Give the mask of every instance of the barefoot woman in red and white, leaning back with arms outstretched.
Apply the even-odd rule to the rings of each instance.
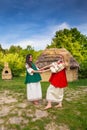
[[[52,74],[49,82],[50,86],[47,89],[46,100],[48,101],[46,109],[52,107],[52,102],[56,102],[56,107],[62,107],[62,101],[64,96],[64,88],[67,87],[66,78],[66,65],[63,56],[58,56],[58,61],[53,62],[51,65],[44,67],[43,69],[50,68]],[[47,70],[46,70],[47,71]]]

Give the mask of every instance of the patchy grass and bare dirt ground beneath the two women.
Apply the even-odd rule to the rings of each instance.
[[[87,130],[87,79],[69,83],[59,109],[44,110],[49,83],[41,86],[43,99],[34,106],[27,101],[24,77],[0,79],[0,130]]]

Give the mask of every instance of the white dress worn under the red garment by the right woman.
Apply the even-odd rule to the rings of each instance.
[[[52,73],[57,73],[60,72],[61,70],[63,70],[64,64],[63,63],[57,63],[57,62],[53,62],[50,70]],[[58,82],[58,81],[56,81]],[[64,89],[63,88],[59,88],[59,87],[55,87],[52,84],[49,85],[48,89],[47,89],[47,94],[46,94],[46,100],[47,101],[51,101],[51,102],[57,102],[60,103],[63,100],[63,96],[64,96]]]

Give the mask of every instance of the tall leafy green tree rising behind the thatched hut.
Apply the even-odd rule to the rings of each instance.
[[[55,33],[51,45],[47,48],[66,48],[80,64],[80,77],[86,76],[87,36],[81,34],[77,28],[59,30]]]

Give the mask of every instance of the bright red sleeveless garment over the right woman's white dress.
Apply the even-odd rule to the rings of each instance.
[[[67,87],[67,78],[66,78],[66,72],[65,69],[58,73],[52,73],[51,77],[49,79],[49,82],[55,86],[56,88],[64,88]]]

